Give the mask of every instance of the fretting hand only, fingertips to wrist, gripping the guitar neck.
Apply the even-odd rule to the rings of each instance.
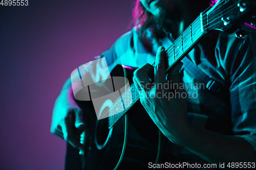
[[[134,83],[140,93],[140,102],[162,133],[174,143],[179,142],[190,125],[187,118],[186,92],[180,86],[179,70],[182,63],[174,65],[165,76],[165,50],[159,47],[155,68],[144,64],[134,72]],[[154,76],[154,82],[148,80]],[[168,86],[169,85],[169,86]]]

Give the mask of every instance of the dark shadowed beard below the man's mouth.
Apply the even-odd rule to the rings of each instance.
[[[157,15],[152,15],[152,22],[159,31],[169,34],[170,30],[178,26],[182,17],[180,7],[174,5],[171,9],[160,8]]]

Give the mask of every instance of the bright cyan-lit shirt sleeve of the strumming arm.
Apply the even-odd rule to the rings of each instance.
[[[103,90],[103,86],[109,85],[112,88],[110,91],[113,92],[110,72],[117,64],[123,64],[125,60],[129,60],[129,57],[123,57],[125,60],[120,60],[120,54],[131,48],[130,41],[132,37],[133,32],[127,32],[119,37],[109,50],[96,56],[95,60],[82,64],[72,71],[71,84],[76,100],[90,101],[98,98],[100,95],[104,95],[105,93],[102,94],[102,91],[100,91],[100,89]],[[108,90],[104,91],[107,93]]]

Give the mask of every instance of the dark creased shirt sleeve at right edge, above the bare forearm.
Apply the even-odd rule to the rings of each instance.
[[[231,121],[236,136],[256,153],[256,32],[241,39],[230,68]]]

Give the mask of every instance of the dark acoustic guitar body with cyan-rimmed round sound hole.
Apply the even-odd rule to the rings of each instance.
[[[133,71],[117,65],[111,77],[125,77],[133,83]],[[92,102],[76,101],[86,121],[86,150],[82,169],[148,169],[160,155],[160,131],[137,102],[121,119],[108,129],[109,117],[97,120]]]

